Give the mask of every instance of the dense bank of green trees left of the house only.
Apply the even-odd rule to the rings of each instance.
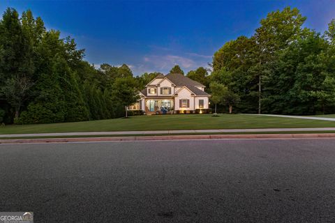
[[[75,40],[47,31],[30,10],[0,21],[0,121],[58,123],[117,118],[136,101],[140,79],[128,66],[84,61]]]

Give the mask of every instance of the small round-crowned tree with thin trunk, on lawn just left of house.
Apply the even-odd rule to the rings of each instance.
[[[111,94],[112,100],[125,108],[127,118],[127,107],[133,105],[139,99],[135,79],[133,77],[115,79]]]

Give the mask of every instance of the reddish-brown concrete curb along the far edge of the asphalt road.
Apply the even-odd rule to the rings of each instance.
[[[54,138],[54,139],[0,139],[0,144],[45,144],[89,141],[163,141],[187,139],[334,139],[335,133],[311,134],[202,134],[202,135],[167,135],[143,137],[88,137],[88,138]]]

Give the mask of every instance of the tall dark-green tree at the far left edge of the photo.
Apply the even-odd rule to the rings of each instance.
[[[0,89],[18,118],[34,85],[35,66],[32,43],[13,8],[6,10],[0,22],[0,60]]]

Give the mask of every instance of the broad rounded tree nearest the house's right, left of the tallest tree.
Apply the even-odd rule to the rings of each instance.
[[[213,72],[207,78],[208,82],[224,84],[237,93],[241,98],[237,109],[244,113],[253,113],[258,109],[258,80],[253,72],[255,49],[255,40],[245,36],[225,43],[214,54]]]

